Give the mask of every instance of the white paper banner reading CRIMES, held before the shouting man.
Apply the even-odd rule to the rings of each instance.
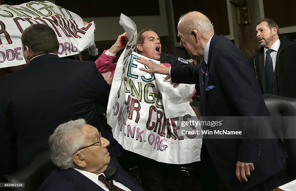
[[[200,161],[202,135],[184,133],[200,131],[200,125],[182,127],[190,119],[197,120],[189,106],[194,85],[174,87],[173,83],[163,81],[164,75],[140,71],[144,65],[135,59],[146,57],[133,52],[136,25],[123,14],[120,25],[129,41],[117,63],[107,107],[107,122],[114,138],[124,149],[159,162]]]

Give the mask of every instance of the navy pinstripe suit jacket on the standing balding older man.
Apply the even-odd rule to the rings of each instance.
[[[171,77],[173,82],[200,84],[202,116],[270,115],[248,60],[227,38],[214,35],[211,39],[205,85],[200,65],[172,67]],[[215,87],[206,90],[211,85]],[[282,168],[281,160],[286,157],[283,143],[278,139],[204,139],[203,144],[230,190],[263,182]],[[237,160],[254,163],[255,170],[248,182],[237,181]]]

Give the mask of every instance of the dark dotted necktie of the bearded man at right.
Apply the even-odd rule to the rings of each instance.
[[[265,57],[265,81],[266,81],[266,93],[272,93],[272,81],[274,79],[274,67],[272,65],[272,59],[270,53],[273,50],[268,49]]]

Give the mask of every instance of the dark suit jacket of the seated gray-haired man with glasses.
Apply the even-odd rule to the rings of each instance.
[[[140,191],[143,188],[116,162],[113,158],[110,160],[110,164],[117,167],[116,174],[113,175],[113,179],[116,182],[120,182],[125,187],[128,187],[133,191]],[[51,174],[45,179],[45,181],[39,187],[40,191],[71,191],[71,190],[103,190],[89,178],[81,174],[75,169],[54,169]]]

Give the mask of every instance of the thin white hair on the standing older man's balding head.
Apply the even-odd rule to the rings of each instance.
[[[178,23],[180,23],[183,17],[188,13],[181,15]],[[187,35],[191,33],[191,30],[197,30],[200,34],[204,34],[209,31],[215,32],[213,23],[205,15],[204,17],[189,17],[186,18],[186,20],[182,20],[182,22],[184,22],[183,28]]]

